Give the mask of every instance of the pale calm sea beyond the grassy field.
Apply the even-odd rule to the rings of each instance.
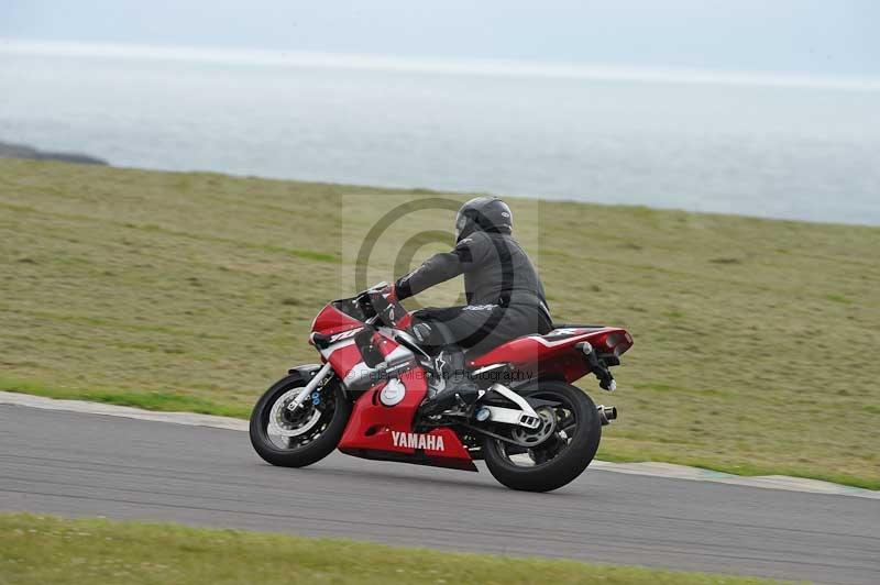
[[[880,224],[878,84],[189,57],[0,44],[0,141],[119,166]]]

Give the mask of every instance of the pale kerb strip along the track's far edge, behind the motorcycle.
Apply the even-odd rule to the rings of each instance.
[[[0,404],[15,405],[45,410],[64,410],[67,412],[81,412],[86,415],[107,415],[139,420],[157,422],[172,422],[188,424],[190,427],[212,427],[233,431],[246,431],[248,421],[229,417],[215,417],[211,415],[197,415],[195,412],[158,412],[143,410],[128,406],[105,405],[85,400],[56,400],[42,396],[18,394],[0,390]],[[809,492],[813,494],[829,494],[836,496],[855,496],[861,498],[880,499],[880,492],[861,489],[818,479],[790,477],[788,475],[760,475],[741,476],[729,473],[713,472],[700,467],[674,465],[672,463],[610,463],[607,461],[593,461],[591,468],[614,473],[629,473],[634,475],[650,475],[670,479],[691,479],[696,482],[714,482],[719,484],[735,484],[767,489],[785,489],[789,492]]]

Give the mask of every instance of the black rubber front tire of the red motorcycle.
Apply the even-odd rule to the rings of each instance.
[[[251,444],[254,451],[266,462],[280,467],[305,467],[316,463],[330,453],[339,444],[342,433],[351,416],[351,402],[342,391],[339,380],[331,379],[327,383],[323,393],[328,399],[333,400],[333,411],[326,415],[327,420],[319,421],[326,424],[312,441],[290,449],[282,449],[270,439],[267,428],[270,416],[275,402],[292,389],[302,387],[308,383],[299,374],[292,374],[276,382],[260,398],[251,413]],[[307,401],[307,404],[309,404]],[[304,405],[300,408],[305,408]]]

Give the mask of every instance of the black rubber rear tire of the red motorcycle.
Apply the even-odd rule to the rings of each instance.
[[[487,437],[483,441],[486,466],[498,482],[512,489],[525,492],[558,489],[581,475],[596,454],[602,439],[602,421],[596,405],[586,393],[562,382],[541,382],[518,394],[566,404],[566,408],[571,410],[576,421],[574,435],[556,456],[542,463],[536,462],[532,466],[517,465],[506,454],[502,442]],[[551,435],[547,442],[554,437],[556,434]]]

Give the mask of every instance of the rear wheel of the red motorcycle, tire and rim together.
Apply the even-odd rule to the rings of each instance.
[[[560,427],[526,453],[524,449],[510,449],[509,443],[486,437],[483,441],[486,466],[498,482],[512,489],[558,489],[581,475],[596,454],[602,439],[602,421],[596,405],[586,393],[562,382],[540,382],[519,394],[559,402],[560,407],[554,410]],[[563,426],[569,426],[571,432],[560,432]],[[515,452],[515,459],[508,449]]]

